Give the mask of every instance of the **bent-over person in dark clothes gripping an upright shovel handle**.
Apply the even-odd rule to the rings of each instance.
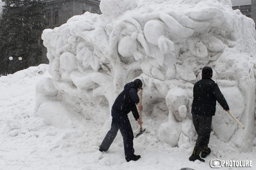
[[[140,100],[137,94],[140,88],[142,88],[142,81],[140,79],[136,79],[124,86],[124,90],[118,95],[112,106],[111,128],[106,137],[103,139],[99,149],[101,152],[107,151],[114,141],[119,129],[124,141],[124,154],[127,162],[130,160],[138,160],[140,158],[140,155],[134,154],[134,136],[127,115],[130,111],[132,111],[132,114],[135,120],[138,121],[138,124],[140,125],[142,123],[136,108],[137,105],[140,111],[143,109],[143,107],[139,104]]]

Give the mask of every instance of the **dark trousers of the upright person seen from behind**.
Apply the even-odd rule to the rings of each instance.
[[[204,147],[205,145],[208,145],[212,126],[212,116],[192,114],[192,119],[196,133],[198,134],[196,146]]]

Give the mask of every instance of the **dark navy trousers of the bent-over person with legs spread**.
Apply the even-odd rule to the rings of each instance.
[[[133,149],[133,132],[130,121],[127,115],[118,115],[112,116],[111,128],[108,131],[106,137],[103,139],[100,150],[107,151],[114,141],[116,134],[120,130],[123,140],[124,140],[124,154],[125,158],[129,159],[134,156]]]

